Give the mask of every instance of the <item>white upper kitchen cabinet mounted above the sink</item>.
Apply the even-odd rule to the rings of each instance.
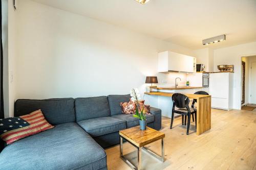
[[[158,72],[180,71],[196,72],[195,57],[165,51],[158,53]]]

